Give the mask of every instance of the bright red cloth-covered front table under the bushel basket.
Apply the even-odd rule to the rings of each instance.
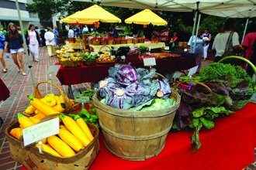
[[[211,130],[202,128],[199,132],[202,148],[192,153],[193,131],[169,133],[157,157],[145,162],[130,162],[112,155],[100,136],[98,157],[90,170],[241,170],[254,162],[256,145],[255,104],[248,103],[235,114],[219,118]]]

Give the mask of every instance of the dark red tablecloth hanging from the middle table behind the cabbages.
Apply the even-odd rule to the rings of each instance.
[[[136,68],[144,67],[143,62],[132,63]],[[72,85],[87,82],[99,82],[109,76],[109,67],[113,64],[97,65],[97,66],[81,66],[75,68],[64,68],[61,66],[57,73],[57,78],[62,85]],[[173,59],[159,59],[157,66],[153,66],[157,73],[172,73],[180,70],[188,70],[195,66],[195,56],[181,57]],[[148,67],[145,67],[148,68]]]

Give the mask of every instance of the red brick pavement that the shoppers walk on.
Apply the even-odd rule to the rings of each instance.
[[[10,55],[10,54],[9,54]],[[2,72],[2,65],[0,65],[0,78],[5,82],[6,86],[10,90],[10,95],[7,100],[0,103],[0,117],[2,117],[4,124],[0,125],[0,169],[12,169],[12,170],[21,170],[22,165],[13,161],[10,156],[9,151],[9,143],[5,138],[5,128],[12,122],[17,121],[17,114],[22,113],[26,110],[26,107],[29,105],[29,100],[27,99],[27,94],[33,95],[33,85],[32,80],[30,78],[28,63],[26,56],[23,56],[23,61],[25,64],[26,76],[22,76],[22,73],[17,73],[16,65],[12,61],[12,57],[10,59],[6,58],[6,54],[4,56],[5,63],[7,68],[9,69],[7,73]],[[41,80],[48,80],[49,76],[46,75],[47,68],[50,65],[54,65],[57,63],[57,59],[54,57],[48,57],[47,48],[40,47],[40,61],[38,63],[32,62],[32,58],[30,58],[30,62],[32,63],[32,71],[35,83],[40,82]],[[213,63],[212,61],[206,60],[202,62],[202,67],[206,67],[209,63]],[[56,76],[53,77],[53,82],[56,83],[65,93],[67,93],[67,86],[61,86],[59,80],[57,80]],[[89,88],[90,83],[81,83],[73,85],[72,88],[80,88],[82,91],[85,88]],[[45,95],[47,93],[56,93],[60,95],[61,93],[57,88],[50,87],[47,84],[40,84],[40,92]],[[67,93],[68,97],[71,97],[71,94]],[[256,151],[255,151],[256,155]],[[256,156],[255,156],[256,158]],[[254,164],[249,165],[247,170],[256,170],[256,162]]]

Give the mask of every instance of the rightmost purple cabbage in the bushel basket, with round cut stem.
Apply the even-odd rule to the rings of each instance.
[[[171,96],[171,87],[168,83],[168,79],[153,80],[150,84],[150,88],[150,97],[168,99]]]

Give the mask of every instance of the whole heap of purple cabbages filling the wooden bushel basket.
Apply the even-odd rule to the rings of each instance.
[[[171,95],[168,80],[151,80],[155,72],[155,69],[148,72],[130,64],[116,64],[109,69],[109,77],[99,82],[100,97],[104,98],[102,103],[124,110],[153,110],[150,107],[153,104],[157,105],[154,109],[175,104],[175,100],[168,99]],[[161,105],[162,102],[165,104]]]

